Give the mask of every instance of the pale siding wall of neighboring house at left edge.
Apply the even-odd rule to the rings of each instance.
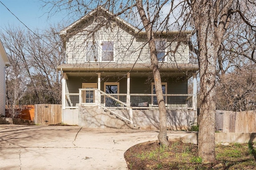
[[[5,89],[5,63],[4,63],[4,59],[0,53],[0,115],[4,114],[4,98],[5,98],[5,94],[4,94],[4,89]]]

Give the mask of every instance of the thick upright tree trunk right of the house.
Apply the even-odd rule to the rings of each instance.
[[[193,15],[198,39],[200,67],[200,115],[198,156],[203,162],[215,162],[215,79],[218,49],[214,37],[214,12],[211,1],[194,2]]]

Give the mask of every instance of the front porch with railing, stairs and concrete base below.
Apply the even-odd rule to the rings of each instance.
[[[154,82],[145,84],[146,76],[139,77],[138,74],[133,74],[132,82],[129,73],[121,80],[103,77],[101,73],[96,74],[97,83],[97,78],[92,75],[74,78],[70,76],[71,74],[67,77],[64,73],[62,79],[64,123],[84,127],[136,126],[141,129],[158,129],[159,108]],[[196,74],[193,75],[193,94],[187,93],[186,79],[180,82],[171,80],[170,77],[163,79],[165,82],[162,81],[162,90],[168,115],[168,129],[186,129],[189,123],[197,121]],[[181,93],[174,94],[174,92]]]

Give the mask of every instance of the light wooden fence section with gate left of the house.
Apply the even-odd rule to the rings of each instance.
[[[35,123],[39,125],[52,125],[62,122],[61,104],[36,104]]]

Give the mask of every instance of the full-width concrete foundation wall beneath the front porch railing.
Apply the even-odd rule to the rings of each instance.
[[[130,119],[129,110],[115,110],[118,114]],[[170,130],[187,130],[191,122],[197,122],[196,111],[167,110],[167,127]],[[89,128],[117,129],[159,129],[159,111],[148,109],[133,110],[134,125],[111,115],[110,112],[99,109],[98,106],[79,106],[79,109],[64,109],[63,123]],[[135,128],[134,128],[135,127]]]

